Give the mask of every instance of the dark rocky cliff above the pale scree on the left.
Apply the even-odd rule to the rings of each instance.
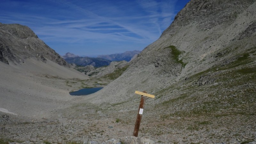
[[[27,26],[0,23],[0,61],[7,64],[20,63],[27,58],[36,58],[43,62],[49,59],[61,66],[70,67]]]

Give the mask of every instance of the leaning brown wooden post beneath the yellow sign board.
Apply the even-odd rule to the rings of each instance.
[[[141,95],[140,106],[139,106],[139,110],[138,110],[138,114],[137,114],[137,118],[136,118],[136,122],[135,122],[135,126],[134,126],[134,131],[133,131],[133,136],[135,136],[135,137],[138,137],[138,133],[139,133],[139,129],[140,129],[140,122],[141,122],[141,118],[142,118],[142,114],[139,114],[139,113],[140,113],[140,108],[144,109],[145,100],[146,100],[146,96]]]

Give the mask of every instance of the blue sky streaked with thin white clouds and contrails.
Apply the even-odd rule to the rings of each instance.
[[[143,50],[189,0],[1,0],[0,22],[31,28],[64,55]]]

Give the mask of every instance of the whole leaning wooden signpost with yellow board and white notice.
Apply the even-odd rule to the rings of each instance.
[[[139,129],[140,129],[140,121],[142,118],[142,113],[143,113],[143,108],[144,108],[144,103],[146,100],[146,96],[150,97],[150,98],[155,98],[154,95],[148,94],[147,92],[139,92],[139,91],[135,91],[136,94],[140,94],[141,98],[140,98],[140,106],[139,106],[139,110],[138,110],[138,114],[137,114],[137,118],[136,118],[136,122],[135,122],[135,126],[134,126],[134,131],[133,131],[133,136],[138,137],[138,133],[139,133]]]

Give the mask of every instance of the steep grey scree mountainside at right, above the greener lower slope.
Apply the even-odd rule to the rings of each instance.
[[[254,6],[255,1],[192,0],[162,36],[147,46],[108,88],[119,85],[127,92],[142,89],[155,93],[186,77],[243,58],[252,59],[248,65],[253,65]],[[134,86],[122,83],[124,80]]]

